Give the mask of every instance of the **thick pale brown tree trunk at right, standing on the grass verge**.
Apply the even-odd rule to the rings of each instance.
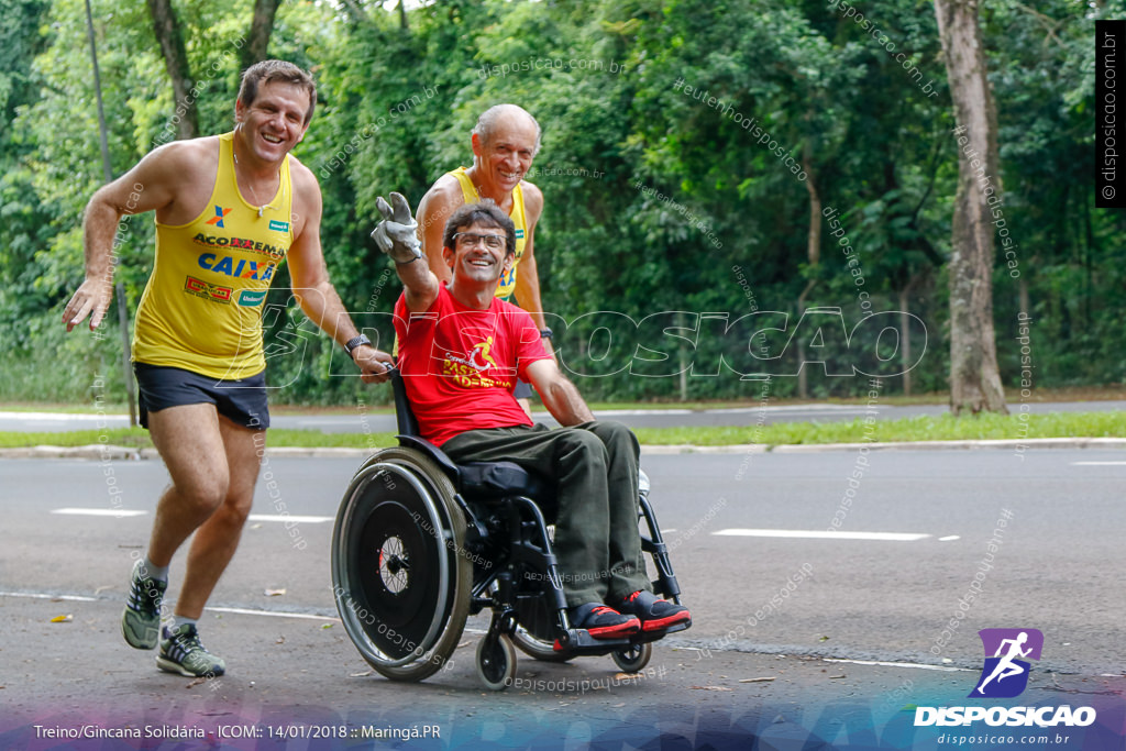
[[[950,279],[950,410],[1008,414],[993,330],[993,225],[986,190],[1001,194],[997,107],[985,77],[977,0],[935,0],[958,128]]]

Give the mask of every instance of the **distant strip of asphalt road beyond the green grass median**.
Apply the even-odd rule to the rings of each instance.
[[[1016,405],[1010,405],[1010,408]],[[602,410],[598,417],[617,420],[631,428],[663,428],[674,426],[753,426],[776,422],[835,422],[865,417],[864,404],[754,404],[722,410]],[[1126,410],[1126,402],[1045,402],[1029,404],[1029,412],[1109,412]],[[945,404],[911,404],[905,406],[879,404],[876,414],[882,420],[899,420],[920,414],[946,414]],[[555,424],[551,415],[539,412],[536,420]],[[363,408],[348,414],[271,415],[275,428],[300,428],[323,432],[394,432],[392,414],[372,414]],[[52,412],[0,412],[0,430],[68,431],[101,428],[126,428],[127,414],[68,414]]]

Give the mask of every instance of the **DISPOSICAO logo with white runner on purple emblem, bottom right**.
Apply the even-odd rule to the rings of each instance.
[[[983,628],[977,632],[985,649],[985,663],[968,698],[1011,699],[1028,688],[1031,663],[1044,650],[1044,634],[1036,628]],[[1022,658],[1027,658],[1022,659]],[[914,724],[1084,727],[1096,719],[1093,707],[915,707]]]

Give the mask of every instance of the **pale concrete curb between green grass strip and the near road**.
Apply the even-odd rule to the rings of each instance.
[[[646,456],[668,454],[817,454],[824,452],[935,452],[935,450],[1009,450],[1024,454],[1031,449],[1120,449],[1126,448],[1126,438],[1028,438],[1025,440],[919,440],[901,442],[859,444],[814,444],[770,446],[767,444],[740,444],[735,446],[692,446],[689,444],[644,445],[641,453]],[[377,448],[334,447],[279,447],[267,448],[268,457],[307,458],[367,458]],[[0,449],[0,459],[159,459],[154,448],[131,448],[91,444],[89,446],[27,446]]]

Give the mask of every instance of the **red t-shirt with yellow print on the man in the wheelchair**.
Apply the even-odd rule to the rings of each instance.
[[[425,313],[395,303],[399,370],[419,431],[441,446],[465,432],[530,426],[512,396],[530,363],[551,357],[527,312],[493,297],[488,311],[465,307],[441,285]]]

